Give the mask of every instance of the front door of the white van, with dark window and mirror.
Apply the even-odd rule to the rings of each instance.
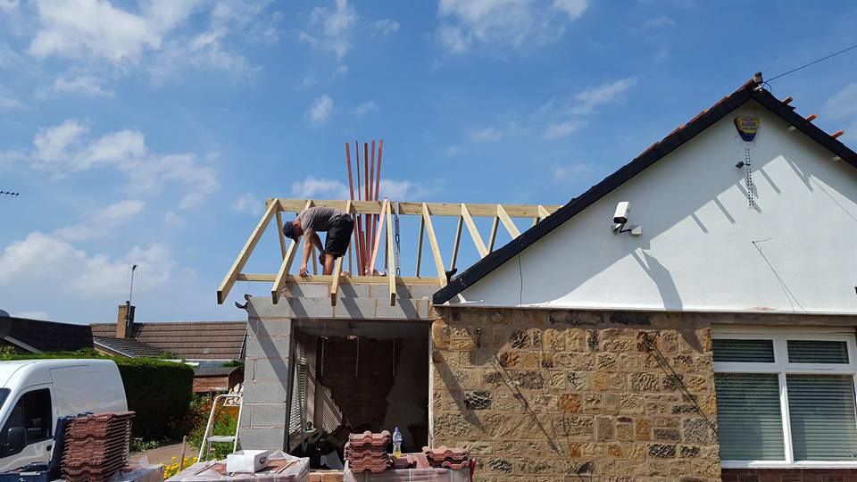
[[[54,411],[50,385],[28,386],[14,402],[9,418],[0,430],[0,472],[30,463],[47,463],[54,446]],[[23,448],[12,446],[11,428],[23,428]]]

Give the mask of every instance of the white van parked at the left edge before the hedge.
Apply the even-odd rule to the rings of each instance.
[[[128,411],[110,360],[0,362],[0,473],[50,461],[58,418],[104,411]]]

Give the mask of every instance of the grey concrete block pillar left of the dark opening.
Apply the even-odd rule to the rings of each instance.
[[[291,332],[292,321],[287,318],[247,320],[242,448],[284,445]]]

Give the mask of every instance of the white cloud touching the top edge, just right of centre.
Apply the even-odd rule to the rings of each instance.
[[[440,0],[436,36],[452,54],[473,46],[519,47],[562,37],[588,0]]]

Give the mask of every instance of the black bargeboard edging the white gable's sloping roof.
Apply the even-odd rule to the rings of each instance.
[[[526,249],[529,245],[533,245],[542,237],[545,237],[553,229],[556,229],[562,223],[577,215],[578,212],[585,210],[604,195],[609,194],[613,189],[620,187],[628,179],[633,178],[654,162],[658,162],[680,145],[685,144],[688,140],[751,100],[761,104],[780,119],[785,120],[794,126],[795,129],[800,130],[803,134],[806,134],[812,140],[828,149],[828,151],[857,168],[857,153],[836,140],[836,137],[830,136],[827,132],[812,124],[811,120],[804,119],[795,113],[795,108],[788,104],[790,98],[785,102],[780,101],[767,90],[761,89],[760,85],[751,79],[739,87],[732,95],[723,97],[720,99],[720,102],[698,113],[693,119],[670,132],[661,141],[650,145],[633,161],[628,162],[628,164],[613,172],[600,183],[590,187],[587,192],[575,197],[552,215],[521,233],[519,237],[516,237],[507,245],[504,245],[493,253],[489,253],[485,258],[470,266],[460,276],[453,278],[449,284],[438,290],[432,296],[432,302],[439,305],[451,300],[453,296],[460,294],[464,289],[472,286],[479,279],[500,267],[504,262],[511,260],[516,254]]]

